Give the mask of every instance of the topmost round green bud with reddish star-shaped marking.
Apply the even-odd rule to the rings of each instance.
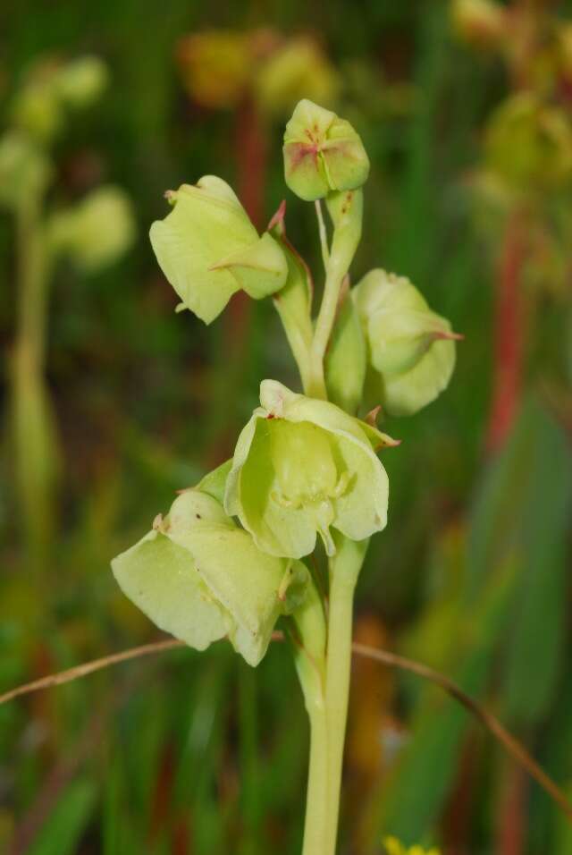
[[[286,183],[307,201],[356,190],[369,174],[366,149],[349,122],[307,98],[286,125],[283,153]]]

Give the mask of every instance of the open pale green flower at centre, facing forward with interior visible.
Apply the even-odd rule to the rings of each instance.
[[[316,534],[334,554],[331,528],[364,540],[387,522],[388,479],[374,448],[389,437],[327,401],[260,387],[226,482],[226,512],[240,518],[257,546],[301,558]]]

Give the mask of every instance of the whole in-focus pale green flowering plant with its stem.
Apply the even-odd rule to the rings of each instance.
[[[265,379],[231,459],[183,491],[112,566],[127,596],[194,648],[226,637],[257,665],[282,619],[311,734],[303,851],[332,855],[353,595],[369,539],[387,523],[378,452],[396,444],[374,415],[360,416],[366,395],[396,414],[433,401],[450,380],[457,336],[406,279],[377,269],[349,287],[369,171],[351,125],[303,100],[283,151],[286,183],[318,215],[325,279],[315,318],[312,278],[287,240],[284,203],[259,235],[228,184],[206,176],[167,193],[172,211],[150,234],[179,308],[206,323],[233,292],[272,296],[302,394]]]

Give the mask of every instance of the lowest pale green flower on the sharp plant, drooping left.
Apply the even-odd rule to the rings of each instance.
[[[168,516],[112,562],[122,591],[156,625],[204,650],[228,636],[249,665],[304,599],[307,569],[263,554],[211,495],[186,490]]]

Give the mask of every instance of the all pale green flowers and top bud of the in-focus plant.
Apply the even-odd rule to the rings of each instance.
[[[305,100],[286,126],[284,165],[301,199],[326,197],[333,224],[327,263],[341,299],[361,229],[361,202],[356,220],[350,197],[366,181],[366,151],[348,122]],[[260,236],[229,185],[212,175],[166,196],[172,211],[151,226],[150,238],[180,308],[209,324],[240,289],[255,299],[273,295],[279,310],[288,304],[281,310],[286,332],[311,360],[311,288],[285,240],[283,212]],[[303,560],[316,539],[332,557],[337,537],[366,541],[387,523],[388,477],[377,452],[395,443],[354,414],[364,379],[389,413],[414,412],[448,384],[454,336],[412,284],[383,270],[367,274],[345,305],[329,331],[333,400],[265,380],[214,494],[201,486],[183,493],[114,560],[125,593],[192,647],[227,636],[256,665],[274,622],[304,597],[310,577]],[[344,377],[358,378],[351,395],[343,393]]]

